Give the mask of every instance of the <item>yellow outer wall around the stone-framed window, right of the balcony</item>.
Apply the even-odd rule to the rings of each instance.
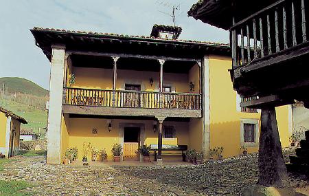
[[[223,146],[224,157],[239,155],[240,120],[259,119],[260,113],[236,111],[236,91],[233,90],[228,69],[231,58],[210,56],[210,148]],[[282,146],[288,146],[288,107],[277,111],[277,122]],[[259,122],[260,124],[260,122]],[[249,147],[249,153],[258,151],[258,147]]]

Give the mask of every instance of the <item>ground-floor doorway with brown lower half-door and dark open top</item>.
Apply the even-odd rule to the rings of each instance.
[[[124,160],[139,160],[140,131],[139,127],[124,127]]]

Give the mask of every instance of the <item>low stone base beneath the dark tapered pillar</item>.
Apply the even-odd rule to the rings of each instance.
[[[276,188],[262,185],[255,185],[252,188],[244,188],[242,190],[244,196],[303,196],[297,193],[293,188]]]

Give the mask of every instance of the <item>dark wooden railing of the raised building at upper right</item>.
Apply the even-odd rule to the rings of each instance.
[[[280,0],[231,28],[233,67],[275,56],[308,40],[308,0]]]

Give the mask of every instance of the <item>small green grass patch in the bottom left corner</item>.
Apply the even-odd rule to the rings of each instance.
[[[1,196],[26,196],[32,195],[30,190],[26,190],[31,185],[25,181],[5,181],[0,180],[0,195]]]

